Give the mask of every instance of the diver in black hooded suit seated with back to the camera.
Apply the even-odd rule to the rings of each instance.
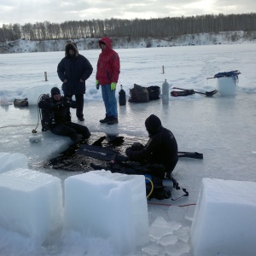
[[[177,141],[172,131],[164,128],[160,119],[151,114],[145,120],[148,131],[148,143],[143,146],[141,143],[134,143],[130,148],[126,148],[125,154],[130,160],[144,161],[151,164],[164,166],[161,169],[161,177],[170,177],[177,164]]]

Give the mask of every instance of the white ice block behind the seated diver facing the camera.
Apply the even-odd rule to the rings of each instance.
[[[34,86],[26,89],[26,97],[27,97],[28,104],[37,105],[38,97],[42,94],[49,94],[50,96],[50,90],[53,87],[57,87],[57,86],[53,84],[44,84],[44,85],[38,85],[38,86]]]

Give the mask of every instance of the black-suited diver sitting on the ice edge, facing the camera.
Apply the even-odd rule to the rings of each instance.
[[[51,131],[55,135],[70,137],[74,142],[79,139],[88,139],[90,131],[84,125],[71,122],[70,108],[76,108],[77,102],[61,96],[57,87],[51,89],[51,97],[46,96],[38,107],[42,108],[42,131]]]

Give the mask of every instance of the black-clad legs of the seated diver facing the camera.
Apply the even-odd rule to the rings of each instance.
[[[50,131],[55,135],[70,137],[73,141],[76,141],[80,138],[79,134],[82,135],[83,138],[90,137],[90,131],[86,126],[75,124],[72,122],[57,124],[51,127]]]

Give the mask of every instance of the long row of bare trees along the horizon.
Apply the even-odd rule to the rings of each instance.
[[[74,38],[130,37],[172,38],[201,32],[256,31],[256,14],[196,15],[134,20],[80,20],[61,24],[49,21],[35,24],[3,24],[0,42],[16,39],[54,40]]]

